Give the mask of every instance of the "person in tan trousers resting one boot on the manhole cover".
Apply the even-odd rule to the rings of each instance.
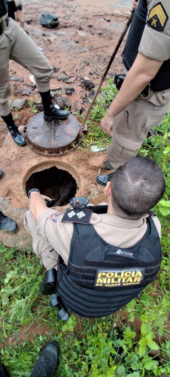
[[[19,21],[20,25],[24,27],[22,6],[16,0],[14,2],[16,5],[15,20]],[[69,116],[69,112],[58,110],[53,105],[50,95],[50,79],[53,69],[33,40],[16,21],[8,17],[7,1],[0,0],[0,116],[6,123],[15,143],[19,146],[25,146],[26,140],[13,120],[8,103],[11,95],[9,59],[27,68],[34,75],[43,104],[45,120],[64,120]]]

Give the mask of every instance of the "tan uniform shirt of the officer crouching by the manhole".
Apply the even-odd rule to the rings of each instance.
[[[57,213],[57,221],[52,220],[54,213]],[[126,220],[115,215],[96,215],[96,213],[93,213],[90,224],[93,224],[96,232],[110,245],[127,248],[136,244],[144,236],[147,230],[146,218],[148,216],[146,214],[138,220]],[[70,241],[73,234],[73,223],[61,222],[62,218],[63,212],[60,215],[56,210],[52,209],[43,211],[38,219],[36,233],[38,236],[43,236],[52,245],[67,265]],[[152,218],[160,237],[161,224],[156,216],[152,216]],[[54,253],[52,257],[54,258]]]

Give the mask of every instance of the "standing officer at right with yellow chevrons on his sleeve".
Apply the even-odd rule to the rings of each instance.
[[[122,54],[126,78],[101,121],[104,133],[113,136],[108,150],[113,169],[136,156],[148,130],[170,108],[170,2],[133,0],[133,6],[137,8]],[[100,175],[96,181],[106,186],[111,177]]]

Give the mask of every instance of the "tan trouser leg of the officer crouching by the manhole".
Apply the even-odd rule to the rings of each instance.
[[[47,270],[50,268],[57,270],[58,253],[43,236],[39,236],[36,233],[37,221],[32,216],[30,210],[26,211],[24,215],[24,226],[31,234],[34,253],[42,260],[44,267]]]

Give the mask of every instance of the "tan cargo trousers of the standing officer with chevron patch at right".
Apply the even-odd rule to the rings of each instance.
[[[113,169],[135,157],[148,134],[170,108],[170,89],[153,93],[149,100],[136,99],[115,118],[112,144],[107,156]]]

